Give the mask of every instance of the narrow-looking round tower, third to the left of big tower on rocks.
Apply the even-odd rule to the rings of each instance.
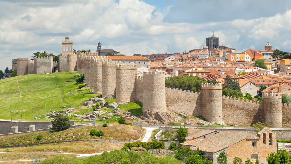
[[[94,69],[94,78],[93,78],[93,87],[94,94],[102,94],[102,61],[108,61],[108,56],[106,57],[95,57],[93,69]]]

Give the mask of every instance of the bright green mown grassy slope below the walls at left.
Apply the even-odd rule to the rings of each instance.
[[[17,110],[20,111],[18,120],[22,115],[23,120],[32,121],[32,106],[34,105],[34,116],[38,116],[38,104],[40,116],[44,114],[45,104],[46,113],[49,113],[50,109],[61,110],[62,106],[75,109],[82,106],[81,101],[96,95],[86,89],[81,90],[84,91],[84,96],[81,95],[81,92],[75,89],[75,75],[77,72],[30,74],[0,80],[0,118],[9,120],[10,110]],[[75,94],[70,96],[68,92]],[[12,117],[16,120],[15,113]]]

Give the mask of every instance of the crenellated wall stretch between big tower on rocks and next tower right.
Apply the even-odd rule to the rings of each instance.
[[[188,116],[201,114],[201,93],[166,86],[166,106]]]

